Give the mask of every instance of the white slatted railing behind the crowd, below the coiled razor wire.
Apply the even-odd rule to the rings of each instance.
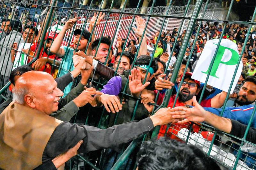
[[[192,10],[188,10],[186,17],[191,17],[192,15]],[[169,15],[173,15],[173,16],[180,16],[182,17],[184,15],[184,11],[172,11],[169,12]],[[200,10],[198,18],[201,18],[203,13],[203,9]],[[207,9],[205,15],[204,15],[204,19],[220,19],[220,20],[224,20],[226,18],[227,15],[227,9],[225,8],[215,8],[215,9]],[[108,18],[103,18],[102,21],[100,22],[100,25],[97,26],[95,28],[95,39],[100,38],[104,25],[107,24],[106,29],[103,33],[103,36],[109,35],[111,37],[111,39],[114,38],[114,42],[113,42],[113,48],[116,49],[116,40],[117,37],[120,36],[121,38],[126,39],[127,38],[127,34],[129,31],[129,27],[132,25],[133,27],[136,26],[135,22],[132,22],[132,17],[131,15],[124,15],[121,20],[119,25],[117,26],[118,23],[118,19],[119,17],[117,16],[112,16]],[[146,22],[147,17],[142,17],[144,19],[144,21]],[[90,20],[90,19],[89,19]],[[164,18],[163,17],[150,17],[149,18],[149,22],[147,25],[147,41],[150,40],[150,38],[152,36],[155,35],[156,32],[159,32],[162,26]],[[181,32],[185,29],[187,29],[188,26],[188,19],[185,19],[183,23],[181,23],[182,19],[177,19],[177,18],[167,18],[165,23],[164,23],[164,29],[163,31],[166,32],[167,29],[172,30],[173,28],[177,27],[179,28],[181,26]],[[82,21],[81,21],[82,22]],[[81,23],[80,22],[80,23]],[[205,22],[203,22],[205,23]],[[57,23],[56,23],[57,24]],[[84,25],[84,23],[81,24],[76,24],[76,28],[82,28],[82,26]],[[85,29],[88,28],[88,23],[85,23]],[[116,35],[114,36],[115,30],[117,29]],[[62,45],[67,45],[68,41],[70,39],[70,33],[69,31],[67,31],[65,37],[64,37],[64,41]],[[135,34],[135,32],[133,31],[133,29],[131,30],[129,36],[128,36],[128,40],[130,40],[131,36],[134,36],[134,39],[137,39],[137,36]],[[73,41],[74,35],[72,36],[72,41]],[[71,41],[71,42],[72,42]],[[128,43],[128,41],[127,41]],[[127,44],[126,44],[127,45]]]

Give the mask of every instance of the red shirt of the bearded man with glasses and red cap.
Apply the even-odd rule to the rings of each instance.
[[[157,91],[155,90],[154,92],[155,92],[155,96],[156,96]],[[171,96],[167,107],[172,108],[174,100],[175,100],[175,96],[176,96],[176,94]],[[157,105],[160,105],[163,102],[163,99],[164,99],[164,93],[159,93],[159,96],[158,96],[158,99],[157,99]],[[202,107],[211,107],[211,100],[212,99],[203,100],[200,105]],[[175,104],[174,107],[178,107],[178,106],[185,106],[184,103],[180,102],[179,98],[177,99],[176,104]],[[183,129],[183,128],[189,129],[189,126],[190,126],[190,122],[184,123],[184,124],[172,123],[170,128],[168,129],[166,135],[168,137],[172,138],[172,139],[180,140],[180,138],[177,137],[178,132],[180,131],[180,129]],[[167,125],[162,125],[160,127],[158,137],[164,136],[166,128],[167,128]],[[199,131],[199,126],[196,125],[196,124],[193,124],[193,133],[198,132],[198,131]]]

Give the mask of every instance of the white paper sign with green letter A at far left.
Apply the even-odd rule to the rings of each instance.
[[[15,68],[17,68],[21,65],[27,64],[28,57],[26,54],[22,53],[21,48],[23,48],[23,49],[30,48],[30,43],[25,43],[25,46],[24,47],[23,46],[24,46],[24,43],[20,43],[20,45],[18,47],[18,51],[15,55],[12,70],[14,70]]]

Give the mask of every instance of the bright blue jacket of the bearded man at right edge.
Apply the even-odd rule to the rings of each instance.
[[[240,123],[248,125],[252,115],[253,108],[254,108],[253,105],[244,105],[241,107],[226,107],[222,117],[234,119]],[[204,107],[204,109],[215,115],[220,116],[221,108],[216,109],[212,107]],[[256,127],[256,114],[254,115],[252,120],[252,127],[254,128]],[[237,150],[239,149],[239,146],[236,144],[233,144],[233,147],[236,148]],[[233,154],[236,156],[236,153],[237,152],[235,150]],[[247,154],[248,154],[248,157],[246,157]],[[256,153],[242,152],[240,154],[240,159],[243,159],[244,161],[245,158],[246,158],[246,161],[245,161],[246,165],[252,168],[253,165],[256,163]]]

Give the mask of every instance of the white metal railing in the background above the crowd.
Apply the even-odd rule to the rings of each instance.
[[[205,4],[202,5],[202,7],[204,7]],[[186,13],[186,17],[191,17],[192,15],[192,10],[193,5],[189,5],[188,7],[188,11]],[[149,13],[150,11],[150,7],[147,8],[147,11]],[[156,15],[163,15],[164,11],[166,11],[167,7],[153,7],[153,12],[152,14],[156,14]],[[168,15],[170,16],[177,16],[177,17],[182,17],[184,15],[186,6],[172,6],[171,10],[169,10],[170,12],[168,12]],[[136,9],[131,8],[131,9],[124,9],[125,12],[135,12]],[[141,8],[138,9],[138,12],[141,10]],[[117,10],[120,11],[120,10]],[[202,17],[203,14],[203,9],[200,10],[199,12],[199,18]],[[58,16],[60,16],[60,12],[58,12],[57,14]],[[75,16],[77,15],[76,11],[71,12],[71,16]],[[224,20],[225,17],[227,15],[227,9],[220,7],[219,4],[217,3],[212,3],[208,5],[208,9],[205,12],[205,15],[202,19],[212,19],[212,20]],[[64,17],[64,15],[62,14],[62,16]],[[89,16],[92,16],[92,12],[89,14]],[[142,17],[144,19],[144,21],[146,21],[146,17]],[[84,18],[85,19],[85,18]],[[80,19],[78,23],[81,24],[76,24],[76,28],[81,28],[84,25],[84,19]],[[108,18],[103,18],[102,21],[100,22],[100,25],[97,26],[95,28],[95,39],[100,38],[101,34],[103,33],[103,36],[107,36],[109,35],[110,37],[114,36],[115,30],[117,29],[117,33],[114,36],[114,40],[113,40],[113,48],[116,49],[116,41],[117,38],[120,36],[121,38],[126,38],[126,35],[129,31],[129,26],[132,25],[133,27],[136,25],[135,21],[132,21],[132,15],[124,15],[121,17],[121,20],[119,22],[119,25],[117,26],[118,23],[118,19],[119,19],[119,14],[116,14],[115,16],[112,17],[108,17]],[[159,24],[161,24],[163,22],[164,18],[161,17],[150,17],[149,22],[148,22],[148,26],[147,26],[147,41],[150,40],[150,38],[152,38],[152,36],[155,35],[156,32],[160,31],[160,27]],[[88,19],[88,22],[90,21],[90,19]],[[107,22],[105,31],[102,32],[105,23]],[[173,28],[177,28],[180,26],[180,22],[181,19],[178,18],[168,18],[167,21],[164,23],[164,29],[162,31],[166,32],[167,29],[169,30],[173,30]],[[183,22],[182,24],[182,29],[181,32],[183,30],[187,29],[188,26],[188,22],[189,20],[185,20],[185,22]],[[203,24],[206,21],[203,22]],[[59,24],[63,25],[65,23],[65,21],[61,21]],[[58,22],[54,23],[55,25],[58,26]],[[89,26],[89,23],[85,24],[85,28],[87,29]],[[68,31],[66,33],[66,37],[64,38],[65,40],[67,40],[66,42],[63,42],[62,45],[66,46],[68,43],[69,38],[72,38],[72,40],[74,39],[73,37],[69,37],[68,36]],[[130,37],[134,36],[134,39],[137,39],[137,35],[136,33],[131,30],[128,39],[130,40]],[[127,45],[127,44],[126,44]]]

